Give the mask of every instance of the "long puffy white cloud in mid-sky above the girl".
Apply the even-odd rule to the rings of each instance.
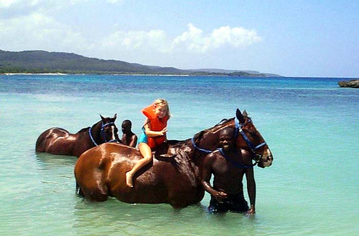
[[[194,25],[188,25],[188,31],[175,37],[168,38],[162,30],[150,31],[117,31],[105,37],[99,47],[119,50],[142,50],[171,53],[187,51],[192,53],[206,53],[221,47],[245,48],[261,41],[261,37],[254,30],[230,28],[229,26],[214,29],[211,34],[204,35],[203,30]]]

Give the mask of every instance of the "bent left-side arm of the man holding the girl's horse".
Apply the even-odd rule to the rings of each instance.
[[[209,192],[209,194],[211,194],[217,201],[221,201],[227,197],[227,194],[223,191],[217,191],[213,189],[213,187],[210,184],[214,158],[215,155],[213,153],[210,153],[205,157],[201,182],[203,188],[207,192]]]

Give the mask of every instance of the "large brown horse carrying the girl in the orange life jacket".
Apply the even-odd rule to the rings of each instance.
[[[224,127],[236,129],[237,147],[252,152],[258,166],[272,164],[272,154],[262,135],[247,113],[237,109],[236,118],[223,120],[192,139],[169,140],[167,155],[173,157],[155,154],[153,162],[137,171],[133,188],[127,187],[125,174],[142,158],[137,148],[114,143],[91,148],[76,162],[76,192],[90,201],[115,197],[128,203],[169,203],[174,208],[196,204],[205,194],[201,184],[204,158],[218,147]]]

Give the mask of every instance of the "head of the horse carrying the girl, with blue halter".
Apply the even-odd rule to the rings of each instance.
[[[236,145],[252,153],[253,160],[258,162],[259,167],[268,167],[272,164],[273,157],[267,143],[260,132],[255,128],[247,112],[243,114],[239,109],[236,111],[235,135]]]

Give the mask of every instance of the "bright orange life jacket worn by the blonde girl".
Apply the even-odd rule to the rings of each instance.
[[[168,117],[164,116],[159,119],[154,113],[153,104],[142,109],[141,112],[149,119],[151,125],[151,131],[162,131],[167,126]],[[162,144],[165,141],[165,136],[147,136],[148,145],[153,148],[159,144]]]

